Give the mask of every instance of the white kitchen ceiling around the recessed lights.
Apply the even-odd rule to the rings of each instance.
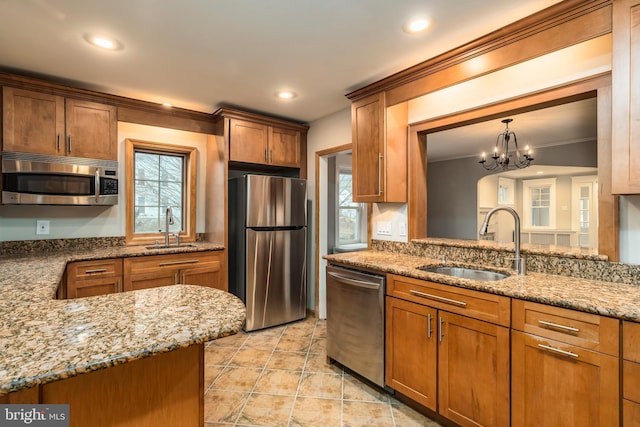
[[[213,112],[311,122],[345,94],[558,0],[0,0],[0,70]],[[416,15],[431,29],[402,31]],[[124,44],[100,51],[86,33]],[[281,89],[297,98],[279,101]]]

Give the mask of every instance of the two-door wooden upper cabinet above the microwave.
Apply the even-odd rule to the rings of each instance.
[[[116,107],[3,88],[3,150],[117,160]]]

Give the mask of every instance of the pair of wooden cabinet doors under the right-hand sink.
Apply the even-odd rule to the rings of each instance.
[[[386,301],[387,385],[461,426],[509,425],[509,328]]]

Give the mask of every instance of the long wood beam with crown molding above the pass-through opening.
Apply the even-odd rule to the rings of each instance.
[[[611,32],[612,0],[566,0],[347,94],[387,92],[387,106]],[[476,66],[469,60],[482,57]],[[484,64],[478,69],[478,63]]]

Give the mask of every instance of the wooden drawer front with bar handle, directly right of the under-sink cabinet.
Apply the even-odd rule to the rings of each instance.
[[[620,354],[617,319],[529,301],[512,301],[512,328],[612,356]]]

